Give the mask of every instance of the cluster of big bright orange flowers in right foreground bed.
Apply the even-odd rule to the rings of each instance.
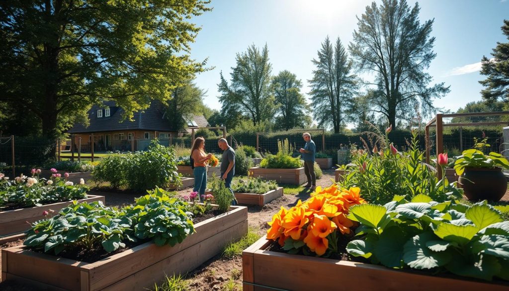
[[[327,236],[334,231],[350,233],[353,222],[347,218],[348,208],[366,203],[359,195],[359,188],[339,189],[337,184],[322,189],[317,187],[311,197],[289,210],[281,209],[272,217],[267,239],[277,241],[282,247],[291,237],[303,241],[317,255],[329,248]]]

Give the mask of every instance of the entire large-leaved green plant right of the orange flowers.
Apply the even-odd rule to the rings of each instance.
[[[417,195],[350,208],[360,226],[347,251],[389,268],[509,280],[509,222],[486,201],[468,206]]]

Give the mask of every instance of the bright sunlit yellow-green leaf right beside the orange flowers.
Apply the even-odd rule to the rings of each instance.
[[[375,204],[361,204],[350,208],[348,218],[372,228],[383,228],[390,221],[387,208]]]

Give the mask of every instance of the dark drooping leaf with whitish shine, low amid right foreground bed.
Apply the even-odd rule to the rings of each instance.
[[[433,269],[445,266],[450,261],[449,252],[434,252],[427,247],[437,237],[432,232],[423,232],[412,237],[404,246],[403,260],[410,268]]]

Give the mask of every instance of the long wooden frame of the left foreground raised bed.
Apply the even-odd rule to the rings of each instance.
[[[2,250],[2,281],[19,280],[51,290],[144,290],[165,275],[189,272],[247,233],[247,208],[194,225],[196,232],[174,247],[153,242],[139,245],[94,263],[60,258],[16,246]]]

